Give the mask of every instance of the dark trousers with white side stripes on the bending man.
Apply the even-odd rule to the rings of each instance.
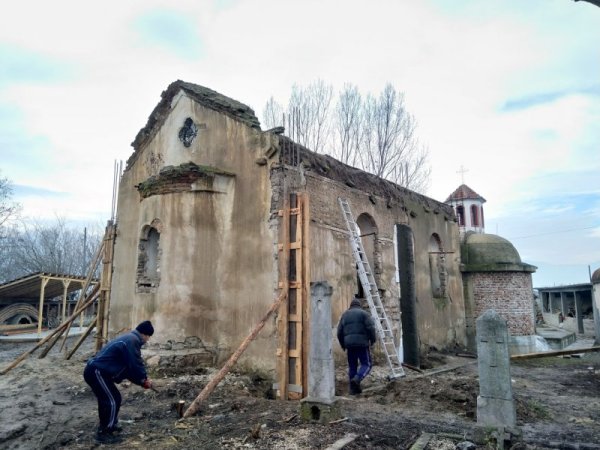
[[[121,393],[111,377],[103,374],[93,363],[88,363],[83,371],[83,378],[90,385],[98,399],[99,431],[111,430],[119,421]]]

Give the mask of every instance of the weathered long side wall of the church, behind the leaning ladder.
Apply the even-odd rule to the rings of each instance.
[[[445,348],[455,344],[465,345],[458,230],[453,217],[434,213],[432,209],[408,197],[390,201],[349,187],[304,170],[302,165],[298,172],[298,188],[301,185],[310,195],[311,280],[327,281],[332,285],[334,323],[337,323],[341,313],[348,308],[353,294],[357,292],[356,268],[348,242],[348,231],[337,201],[342,196],[349,201],[355,220],[366,213],[375,221],[375,248],[379,256],[374,264],[375,278],[379,289],[383,290],[382,301],[394,321],[394,328],[397,330],[400,323],[400,291],[394,261],[394,225],[406,224],[414,233],[417,321],[421,348],[426,350],[429,346]],[[434,299],[432,294],[428,246],[433,233],[440,236],[444,251],[448,252],[448,296],[445,300]]]

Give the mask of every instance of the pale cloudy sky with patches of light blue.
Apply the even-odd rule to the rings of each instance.
[[[111,217],[115,163],[173,81],[253,108],[317,79],[404,92],[429,197],[464,182],[534,287],[600,267],[600,8],[572,0],[10,2],[0,176],[26,217]],[[464,171],[461,171],[461,168]]]

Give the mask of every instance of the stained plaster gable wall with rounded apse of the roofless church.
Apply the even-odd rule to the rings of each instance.
[[[199,133],[185,147],[178,132],[188,117],[198,124]],[[218,359],[229,356],[260,320],[274,299],[277,281],[276,237],[269,229],[269,172],[266,165],[256,164],[270,139],[183,92],[173,98],[171,112],[149,142],[136,150],[119,186],[113,331],[150,319],[156,329],[151,342],[166,348],[197,337],[199,346],[214,351]],[[190,161],[233,175],[216,175],[209,190],[196,186],[198,190],[141,198],[137,185],[166,166]],[[160,284],[156,292],[138,293],[141,230],[156,219]],[[272,323],[257,341],[245,356],[274,364]]]

